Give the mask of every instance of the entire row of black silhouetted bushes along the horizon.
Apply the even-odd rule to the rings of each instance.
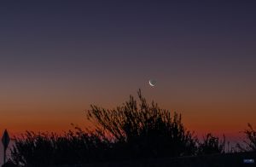
[[[247,136],[244,145],[226,150],[224,137],[219,139],[209,133],[199,141],[193,132],[184,127],[180,114],[171,114],[158,107],[154,101],[148,104],[140,90],[138,101],[130,96],[129,101],[113,110],[91,106],[86,117],[94,125],[93,129],[74,127],[65,135],[26,131],[21,137],[15,137],[9,164],[96,166],[94,163],[104,163],[101,166],[106,166],[109,162],[144,162],[146,165],[149,159],[162,159],[161,163],[176,162],[174,166],[189,166],[186,165],[189,161],[194,164],[204,162],[206,166],[210,166],[207,163],[212,160],[223,164],[231,158],[242,158],[242,153],[247,151],[251,151],[251,157],[255,157],[253,151],[256,150],[256,132],[250,124],[249,129],[244,131]],[[136,166],[135,164],[130,166]]]

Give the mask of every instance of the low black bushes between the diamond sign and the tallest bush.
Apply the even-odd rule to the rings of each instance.
[[[62,136],[26,131],[21,137],[15,137],[11,158],[20,166],[84,164],[102,161],[105,150],[108,150],[108,141],[79,128]]]

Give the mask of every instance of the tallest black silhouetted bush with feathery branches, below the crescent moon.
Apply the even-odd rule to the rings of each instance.
[[[91,106],[87,118],[98,135],[113,140],[113,157],[149,158],[194,155],[195,136],[185,130],[181,115],[147,103],[141,90],[138,102],[133,96],[113,110]]]

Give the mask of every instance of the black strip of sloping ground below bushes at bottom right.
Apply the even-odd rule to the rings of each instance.
[[[122,162],[83,164],[83,165],[62,165],[59,167],[215,167],[215,166],[256,166],[254,164],[244,164],[243,159],[253,158],[256,160],[256,152],[249,153],[226,153],[226,154],[212,154],[197,157],[183,157],[183,158],[151,158],[143,160],[132,160]]]

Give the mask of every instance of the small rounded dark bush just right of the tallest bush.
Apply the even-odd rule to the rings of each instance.
[[[199,143],[198,154],[213,154],[213,153],[224,153],[225,149],[225,136],[223,141],[220,141],[218,137],[208,133],[201,143]]]

